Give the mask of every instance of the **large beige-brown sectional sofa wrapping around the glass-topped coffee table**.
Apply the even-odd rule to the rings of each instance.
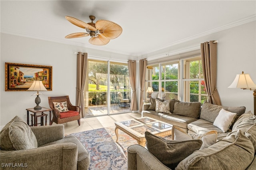
[[[256,169],[256,116],[250,111],[244,113],[245,107],[223,107],[205,102],[201,108],[198,106],[198,103],[172,101],[170,102],[170,112],[172,113],[168,114],[148,110],[149,106],[149,104],[144,105],[142,116],[152,117],[176,125],[190,134],[204,134],[211,130],[218,132],[216,143],[201,150],[195,149],[192,154],[186,156],[180,162],[176,162],[177,166],[172,169]],[[200,107],[199,115],[198,107]],[[223,132],[223,130],[216,127],[216,124],[214,124],[216,123],[214,122],[215,119],[217,119],[222,109],[236,113],[232,119],[232,125],[226,132]],[[185,115],[185,113],[187,113],[187,115]],[[156,146],[156,151],[160,152],[160,154],[155,154],[155,152],[152,154],[152,152],[148,150],[149,148],[146,149],[140,145],[128,147],[128,170],[170,170],[166,162],[161,162],[160,160],[167,157],[168,154],[174,154],[172,155],[173,158],[182,156],[184,150],[179,148],[177,143],[175,147],[172,148],[172,143],[176,141],[166,141],[165,139],[161,140],[159,138],[160,137],[157,139],[158,142],[159,140],[163,140],[164,142],[162,142],[162,144],[154,143],[153,146]],[[184,147],[184,143],[181,144],[181,146]],[[166,150],[161,150],[160,148],[170,150],[166,153]],[[170,161],[174,161],[174,159],[170,159]]]

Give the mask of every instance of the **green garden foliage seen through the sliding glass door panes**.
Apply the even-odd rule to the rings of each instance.
[[[111,104],[119,102],[117,98],[118,91],[122,92],[124,97],[129,98],[130,84],[127,65],[110,63],[110,77],[108,77],[107,62],[89,61],[88,67],[88,98],[91,99],[92,105],[106,105],[108,79],[110,79]]]

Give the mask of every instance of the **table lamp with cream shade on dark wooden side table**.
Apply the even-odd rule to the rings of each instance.
[[[35,99],[35,103],[36,103],[36,107],[34,107],[35,110],[40,110],[42,109],[41,106],[39,106],[39,104],[41,103],[41,99],[39,97],[40,94],[42,93],[38,93],[38,91],[47,91],[47,89],[44,87],[42,81],[34,81],[33,84],[30,86],[30,88],[27,91],[37,91],[37,93],[33,94],[33,95],[37,95],[36,99]]]

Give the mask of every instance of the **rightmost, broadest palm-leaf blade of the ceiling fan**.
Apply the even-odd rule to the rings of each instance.
[[[120,36],[123,29],[118,24],[108,20],[98,20],[95,23],[97,30],[103,31],[100,35],[107,39],[114,39]]]

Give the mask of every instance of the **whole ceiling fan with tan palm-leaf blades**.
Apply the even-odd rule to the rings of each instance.
[[[106,45],[111,39],[117,38],[122,33],[122,27],[108,20],[98,20],[93,23],[95,16],[89,16],[92,22],[85,23],[71,16],[65,17],[75,26],[84,28],[86,32],[77,32],[67,35],[65,38],[80,38],[91,36],[89,43],[94,45]]]

